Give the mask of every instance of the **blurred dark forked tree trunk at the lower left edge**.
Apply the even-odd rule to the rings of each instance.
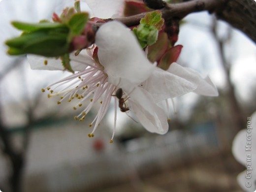
[[[24,57],[18,58],[12,62],[12,64],[9,64],[8,67],[3,70],[3,72],[0,74],[0,83],[3,77],[8,75],[11,71],[15,70],[18,65],[24,61]],[[22,85],[21,85],[22,86]],[[26,86],[23,84],[23,86]],[[36,109],[38,103],[39,103],[39,97],[38,99],[32,101],[29,101],[27,106],[25,107],[25,114],[27,116],[27,123],[24,126],[24,132],[23,132],[23,143],[22,148],[17,149],[14,146],[13,142],[13,136],[10,133],[10,128],[4,124],[3,121],[3,109],[2,109],[2,100],[0,100],[0,138],[1,138],[1,145],[0,149],[1,152],[4,154],[4,156],[7,157],[10,164],[11,172],[9,173],[9,190],[11,192],[20,192],[22,190],[22,174],[23,174],[23,168],[26,162],[26,153],[29,146],[30,141],[30,133],[31,128],[34,123],[36,123],[36,119],[34,118],[34,110]],[[1,188],[2,189],[2,188]],[[3,190],[4,191],[4,190]]]

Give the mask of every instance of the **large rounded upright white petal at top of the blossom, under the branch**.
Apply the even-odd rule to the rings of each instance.
[[[120,22],[102,25],[96,33],[96,45],[99,62],[114,85],[120,85],[120,81],[138,85],[156,68],[148,61],[133,33]]]

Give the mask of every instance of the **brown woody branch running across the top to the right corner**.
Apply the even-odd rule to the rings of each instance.
[[[208,11],[232,27],[244,32],[256,43],[256,2],[254,0],[191,0],[177,4],[167,4],[160,9],[165,20],[183,19],[190,13]],[[128,27],[139,24],[146,13],[115,18]],[[100,25],[100,24],[99,24]]]

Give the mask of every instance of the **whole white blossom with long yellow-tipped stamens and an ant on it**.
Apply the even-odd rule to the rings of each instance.
[[[92,50],[89,49],[78,56],[71,55],[71,66],[77,72],[48,88],[53,92],[49,96],[62,95],[59,103],[64,99],[70,101],[79,98],[75,108],[81,106],[87,98],[91,99],[91,103],[75,117],[80,118],[80,121],[100,100],[101,107],[92,122],[94,129],[89,136],[94,135],[109,107],[111,97],[114,96],[117,102],[115,91],[118,89],[124,92],[121,97],[125,101],[119,107],[128,108],[144,128],[159,134],[167,132],[168,123],[166,113],[158,102],[197,90],[204,95],[218,94],[211,81],[208,83],[208,80],[190,69],[173,63],[168,71],[164,71],[149,62],[133,33],[120,22],[112,21],[102,25],[96,33],[96,46],[99,63],[94,61]],[[62,69],[60,61],[50,59],[44,65],[44,60],[41,57],[29,57],[33,69]],[[66,87],[55,93],[53,87],[60,85]],[[116,115],[114,119],[116,121]]]

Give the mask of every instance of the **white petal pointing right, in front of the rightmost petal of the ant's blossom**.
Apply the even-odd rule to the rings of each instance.
[[[144,89],[154,97],[155,102],[182,96],[197,88],[198,83],[200,82],[199,78],[196,75],[189,73],[184,67],[181,67],[178,64],[173,65],[173,68],[176,68],[176,66],[186,78],[182,78],[157,67],[147,81],[142,84]]]

